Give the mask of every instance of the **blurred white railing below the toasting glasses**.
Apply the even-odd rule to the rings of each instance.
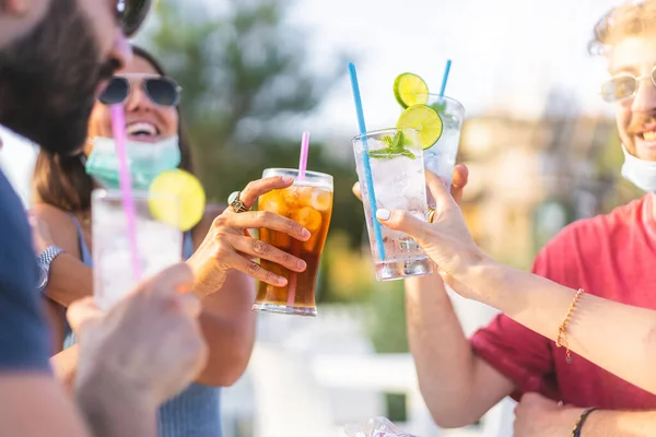
[[[461,303],[455,304],[462,316]],[[406,395],[407,422],[397,425],[421,437],[512,435],[509,400],[479,425],[440,429],[419,391],[412,356],[374,353],[350,311],[321,311],[317,319],[261,318],[261,341],[246,376],[224,393],[225,437],[340,436],[340,425],[385,415],[384,393]],[[469,333],[480,316],[465,312]]]

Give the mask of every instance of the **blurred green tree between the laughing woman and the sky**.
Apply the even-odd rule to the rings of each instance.
[[[263,168],[297,165],[298,125],[345,74],[340,56],[327,62],[335,66],[328,72],[307,67],[307,35],[288,20],[290,7],[285,0],[227,0],[214,11],[200,1],[160,0],[141,36],[183,86],[196,169],[212,202],[225,203]],[[316,142],[311,158],[313,169],[335,176],[331,228],[360,244],[354,165],[331,158]]]

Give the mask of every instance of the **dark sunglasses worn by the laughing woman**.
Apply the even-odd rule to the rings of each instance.
[[[177,106],[180,103],[183,88],[171,78],[144,78],[141,80],[141,88],[155,105]],[[119,105],[129,95],[130,81],[127,78],[115,75],[98,97],[98,101],[105,105]]]

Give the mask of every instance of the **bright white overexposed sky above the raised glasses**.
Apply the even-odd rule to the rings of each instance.
[[[191,1],[191,0],[186,0]],[[199,0],[196,0],[199,1]],[[313,67],[339,51],[354,55],[367,128],[386,128],[399,114],[391,86],[411,71],[438,91],[453,60],[446,94],[469,116],[504,111],[539,117],[558,87],[582,113],[607,114],[596,91],[604,61],[587,56],[591,28],[618,0],[296,0],[290,22],[304,27]],[[356,133],[350,83],[344,76],[304,129],[316,140],[343,141]],[[301,129],[300,129],[301,131]],[[34,152],[0,131],[0,165],[23,199]]]

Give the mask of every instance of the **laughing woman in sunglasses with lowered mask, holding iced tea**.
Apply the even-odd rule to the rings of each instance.
[[[148,187],[157,173],[176,167],[191,170],[189,144],[177,108],[180,92],[159,62],[136,47],[131,63],[112,80],[93,109],[83,153],[58,157],[42,152],[37,160],[32,214],[47,224],[52,236],[42,238],[39,263],[46,272],[44,293],[57,336],[52,364],[65,381],[72,380],[77,366],[77,346],[66,324],[66,307],[92,294],[91,191],[99,185],[117,185],[116,172],[103,164],[116,160],[107,105],[125,106],[128,149],[157,150],[161,168],[140,172],[138,160],[131,164],[134,184]],[[258,180],[249,184],[239,199],[251,206],[262,193],[292,182],[283,178]],[[253,259],[271,259],[295,271],[305,268],[303,261],[245,235],[244,229],[255,227],[277,228],[301,240],[309,235],[282,216],[234,211],[232,206],[209,206],[201,222],[185,233],[183,256],[196,275],[195,293],[203,305],[201,326],[210,359],[197,383],[161,408],[161,436],[221,435],[220,387],[239,378],[253,350],[253,279],[279,286],[284,281]]]

